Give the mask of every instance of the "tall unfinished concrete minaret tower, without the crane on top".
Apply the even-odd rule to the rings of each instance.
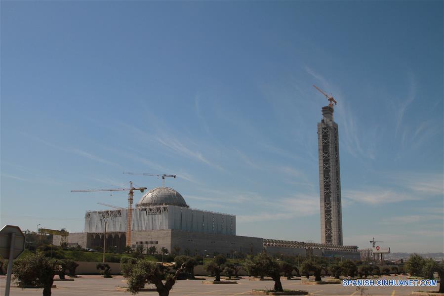
[[[322,107],[322,116],[318,123],[321,241],[323,244],[342,246],[338,125],[333,121],[331,104]]]

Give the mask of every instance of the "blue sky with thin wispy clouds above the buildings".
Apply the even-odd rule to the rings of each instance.
[[[443,252],[443,50],[443,1],[1,1],[1,224],[81,231],[126,195],[72,189],[161,185],[126,170],[319,242],[316,84],[344,244]]]

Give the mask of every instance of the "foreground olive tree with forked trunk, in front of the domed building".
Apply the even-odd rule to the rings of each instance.
[[[159,296],[168,296],[183,268],[179,267],[174,273],[169,273],[168,267],[163,264],[138,260],[129,274],[128,291],[134,295],[145,287],[146,283],[153,283]]]

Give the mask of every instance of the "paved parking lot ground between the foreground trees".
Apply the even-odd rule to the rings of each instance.
[[[56,276],[57,278],[57,276]],[[382,277],[386,278],[386,277]],[[405,276],[392,276],[389,279],[405,279]],[[212,280],[212,278],[207,278]],[[74,281],[54,281],[57,288],[52,289],[52,295],[131,295],[129,292],[117,291],[116,286],[124,286],[121,276],[114,276],[111,279],[105,279],[98,275],[83,275]],[[4,291],[5,276],[0,276],[1,294]],[[355,287],[343,287],[342,284],[329,285],[303,285],[301,281],[282,280],[283,289],[306,290],[310,295],[342,295],[359,296],[361,292],[356,291]],[[171,296],[235,296],[250,295],[252,289],[272,289],[273,281],[249,281],[247,277],[238,280],[238,284],[232,285],[204,285],[201,281],[177,281],[170,292]],[[363,295],[371,296],[406,296],[411,295],[412,291],[433,291],[438,287],[370,287]],[[20,289],[11,288],[11,296],[31,296],[41,295],[41,289]],[[141,292],[139,295],[157,296],[157,292]]]

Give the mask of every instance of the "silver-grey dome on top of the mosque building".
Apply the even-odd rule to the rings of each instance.
[[[136,207],[172,205],[189,208],[182,195],[169,187],[157,187],[145,193]]]

